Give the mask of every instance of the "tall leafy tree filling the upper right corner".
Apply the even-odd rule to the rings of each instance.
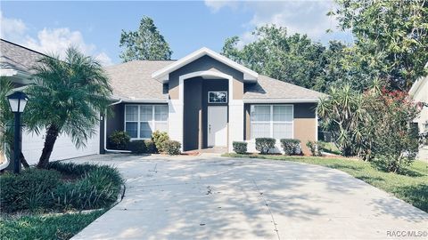
[[[428,60],[428,2],[424,0],[336,0],[343,30],[355,36],[350,68],[388,81],[394,89],[408,90]]]

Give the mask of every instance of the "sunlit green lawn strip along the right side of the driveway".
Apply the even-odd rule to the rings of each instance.
[[[317,164],[347,172],[359,180],[364,180],[376,188],[406,201],[428,212],[428,164],[416,161],[401,174],[382,172],[372,164],[347,158],[327,158],[315,156],[260,156],[225,154],[223,156],[265,158],[306,164]]]

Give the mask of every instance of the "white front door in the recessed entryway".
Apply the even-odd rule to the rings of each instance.
[[[227,106],[208,107],[208,147],[227,146]]]

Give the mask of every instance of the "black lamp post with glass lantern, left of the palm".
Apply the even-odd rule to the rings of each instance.
[[[21,169],[21,113],[27,105],[27,95],[24,92],[13,92],[7,96],[12,113],[15,114],[13,131],[13,172],[20,173]]]

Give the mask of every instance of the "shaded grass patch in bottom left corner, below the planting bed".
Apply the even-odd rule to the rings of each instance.
[[[106,210],[0,220],[1,239],[70,239]]]

